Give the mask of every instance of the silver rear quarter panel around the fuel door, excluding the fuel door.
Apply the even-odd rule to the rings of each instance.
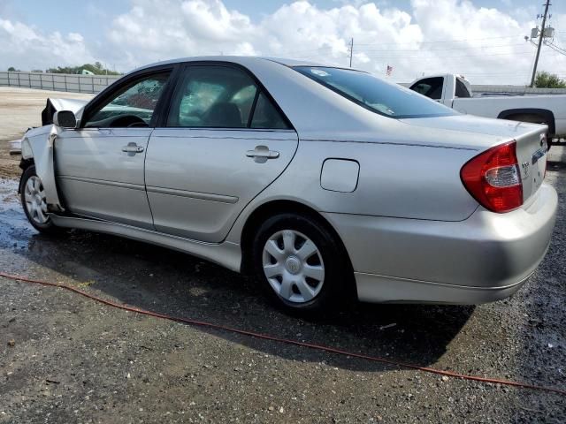
[[[258,206],[276,200],[298,201],[319,212],[462,221],[478,208],[463,187],[460,169],[475,149],[387,143],[302,140],[294,160],[271,186],[243,211],[231,233],[237,235]],[[321,187],[326,159],[360,164],[356,190],[340,193]]]

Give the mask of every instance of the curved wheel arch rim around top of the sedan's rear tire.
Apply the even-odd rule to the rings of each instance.
[[[352,266],[352,261],[350,260],[348,250],[344,245],[344,242],[340,238],[340,234],[336,231],[332,225],[324,216],[322,216],[316,209],[305,205],[299,201],[290,200],[272,200],[262,203],[253,212],[249,214],[244,223],[241,231],[241,272],[243,274],[250,274],[253,269],[253,258],[251,255],[252,243],[254,241],[254,235],[256,229],[261,223],[266,219],[286,214],[294,213],[302,216],[308,216],[311,219],[317,221],[323,225],[326,230],[333,234],[333,237],[340,243],[340,249],[345,254],[348,262],[348,271],[351,271],[350,275],[354,277],[354,267]]]

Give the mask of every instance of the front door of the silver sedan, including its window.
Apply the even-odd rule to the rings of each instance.
[[[71,212],[153,230],[144,160],[171,72],[122,81],[87,106],[79,128],[57,136],[57,186]]]

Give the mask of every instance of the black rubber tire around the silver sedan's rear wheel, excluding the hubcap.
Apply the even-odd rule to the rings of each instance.
[[[263,254],[265,243],[273,234],[283,230],[301,232],[312,240],[322,256],[325,266],[325,281],[321,291],[309,302],[294,303],[280,298],[264,275]],[[318,223],[317,220],[288,213],[272,216],[259,227],[254,238],[252,255],[256,277],[261,282],[264,292],[272,301],[288,311],[318,312],[337,307],[339,300],[347,300],[344,294],[346,292],[350,293],[348,284],[351,284],[351,278],[348,278],[348,261],[346,261],[343,250],[339,240],[324,225]],[[350,297],[348,296],[348,298]]]

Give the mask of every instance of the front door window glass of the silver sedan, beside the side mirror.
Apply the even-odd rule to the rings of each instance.
[[[88,118],[86,128],[149,126],[170,72],[137,79],[122,87]]]

